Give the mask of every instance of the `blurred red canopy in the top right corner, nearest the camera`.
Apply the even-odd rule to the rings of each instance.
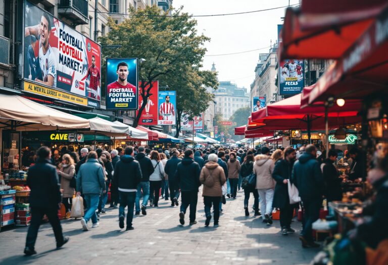
[[[386,6],[386,0],[304,0],[300,8],[288,8],[280,61],[340,58]]]

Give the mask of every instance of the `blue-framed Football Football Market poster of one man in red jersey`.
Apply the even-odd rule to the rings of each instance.
[[[107,58],[107,110],[137,110],[137,59]]]

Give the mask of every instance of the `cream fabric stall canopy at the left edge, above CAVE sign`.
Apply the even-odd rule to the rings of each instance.
[[[0,129],[41,131],[88,129],[89,121],[18,95],[0,94]]]

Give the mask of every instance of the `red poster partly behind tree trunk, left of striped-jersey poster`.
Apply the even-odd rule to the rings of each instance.
[[[150,86],[147,86],[147,90]],[[139,82],[140,89],[140,82]],[[138,125],[158,125],[158,91],[159,82],[153,81],[150,90],[150,96],[147,99],[146,108],[141,112]],[[139,93],[139,109],[143,104],[143,97]],[[139,111],[136,111],[136,115]]]

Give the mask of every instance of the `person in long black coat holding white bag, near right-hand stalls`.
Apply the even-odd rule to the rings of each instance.
[[[284,159],[276,162],[272,173],[272,178],[276,181],[272,206],[280,208],[280,227],[283,236],[295,233],[295,230],[291,228],[295,204],[289,204],[288,180],[291,178],[296,156],[294,148],[289,146],[285,148]]]

